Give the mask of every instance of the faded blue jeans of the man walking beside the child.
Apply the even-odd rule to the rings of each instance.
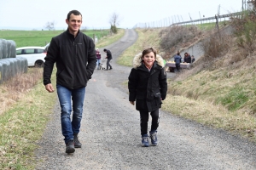
[[[61,105],[61,131],[65,142],[73,139],[73,134],[79,133],[83,114],[85,88],[69,89],[56,85]],[[71,102],[71,99],[73,102]],[[73,103],[73,107],[72,107]],[[72,121],[70,118],[73,108]]]

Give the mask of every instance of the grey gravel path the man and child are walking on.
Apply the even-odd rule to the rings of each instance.
[[[124,83],[131,68],[114,63],[136,39],[135,31],[126,30],[125,37],[107,47],[113,70],[96,70],[86,88],[79,133],[83,146],[71,155],[65,153],[56,102],[38,142],[36,169],[256,169],[255,144],[165,111],[160,111],[159,145],[141,147],[139,113],[129,103]]]

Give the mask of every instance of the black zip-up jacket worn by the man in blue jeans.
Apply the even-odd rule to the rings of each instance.
[[[74,38],[68,29],[53,37],[44,62],[44,85],[51,83],[55,62],[57,84],[70,89],[84,88],[96,67],[93,40],[80,31]]]

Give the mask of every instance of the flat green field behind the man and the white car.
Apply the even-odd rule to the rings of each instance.
[[[59,31],[0,31],[0,38],[6,40],[14,40],[16,42],[16,48],[25,46],[41,46],[44,47],[50,42],[52,37],[55,37],[64,30]],[[88,30],[84,33],[93,38],[93,34],[96,35],[98,40],[102,37],[108,36],[109,30]]]

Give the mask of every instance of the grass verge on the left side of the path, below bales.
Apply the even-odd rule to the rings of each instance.
[[[27,76],[42,77],[43,69],[36,70],[31,69]],[[52,78],[55,82],[55,77]],[[39,80],[3,112],[0,116],[1,169],[33,169],[35,160],[32,157],[38,148],[36,143],[44,133],[55,102],[56,94],[47,93],[42,80]]]

